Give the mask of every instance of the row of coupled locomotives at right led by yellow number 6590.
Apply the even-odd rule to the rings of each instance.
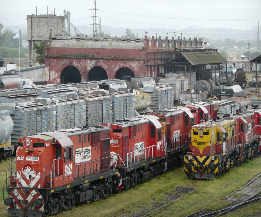
[[[260,109],[197,124],[191,130],[191,151],[184,156],[189,179],[215,179],[261,149]]]

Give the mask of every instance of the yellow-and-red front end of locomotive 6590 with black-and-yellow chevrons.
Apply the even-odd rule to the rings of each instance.
[[[215,179],[225,166],[222,156],[226,151],[228,133],[223,124],[205,122],[192,127],[191,151],[184,156],[184,171],[189,179]]]

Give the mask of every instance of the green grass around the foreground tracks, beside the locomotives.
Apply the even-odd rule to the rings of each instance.
[[[260,163],[260,157],[253,159],[240,167],[232,168],[229,173],[219,176],[215,180],[189,180],[182,167],[176,168],[175,170],[162,174],[161,176],[142,183],[128,191],[123,191],[120,194],[112,195],[110,198],[95,203],[79,205],[72,210],[55,215],[55,217],[113,216],[177,185],[193,188],[197,187],[197,193],[193,192],[185,195],[168,207],[162,209],[160,213],[155,213],[155,215],[187,216],[218,200],[222,200],[222,198],[245,185],[250,179],[253,179],[256,174],[261,173]],[[7,166],[8,164],[6,161],[1,163],[1,183],[3,183],[3,176],[5,179],[5,168],[7,168]],[[164,198],[164,196],[159,196],[157,199],[158,198]],[[215,204],[215,207],[220,208],[223,205],[226,205],[226,203],[226,201],[220,201],[219,204]],[[148,209],[148,205],[144,205],[144,208]],[[261,206],[256,207],[255,209],[258,211],[259,208],[261,210]],[[253,211],[254,210],[251,210],[251,212]],[[130,214],[131,211],[128,213]],[[126,215],[126,213],[122,215]],[[0,199],[0,216],[6,216],[6,207],[3,204],[2,198]]]

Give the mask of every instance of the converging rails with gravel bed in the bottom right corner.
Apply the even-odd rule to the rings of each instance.
[[[223,207],[221,209],[216,210],[206,210],[207,208],[211,208],[211,206],[219,203],[220,201],[216,201],[215,203],[198,210],[197,212],[194,212],[186,217],[207,217],[207,216],[222,216],[223,214],[226,214],[227,212],[230,212],[241,205],[245,205],[247,203],[260,200],[261,197],[258,196],[258,194],[261,192],[261,174],[256,175],[255,178],[253,178],[251,181],[249,181],[246,185],[239,188],[235,192],[229,194],[222,200],[227,200],[231,204]]]

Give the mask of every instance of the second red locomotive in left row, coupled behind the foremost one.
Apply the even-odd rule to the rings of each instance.
[[[142,115],[103,124],[109,129],[110,152],[119,157],[114,157],[119,163],[117,191],[165,172],[165,135],[158,119]]]

